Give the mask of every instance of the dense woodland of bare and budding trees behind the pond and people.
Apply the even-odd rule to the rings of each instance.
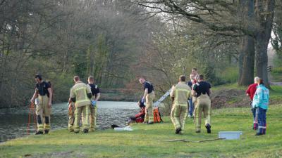
[[[281,0],[0,0],[0,12],[0,107],[28,105],[36,73],[58,103],[74,75],[127,95],[142,76],[160,95],[192,67],[213,85],[269,86],[269,42],[282,60]]]

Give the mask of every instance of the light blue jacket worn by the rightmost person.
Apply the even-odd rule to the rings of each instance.
[[[252,107],[261,107],[264,110],[267,110],[269,107],[269,89],[263,84],[257,86],[254,100],[252,100]]]

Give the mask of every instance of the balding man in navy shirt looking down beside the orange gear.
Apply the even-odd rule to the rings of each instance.
[[[154,86],[146,81],[144,78],[139,79],[140,84],[144,86],[144,96],[142,97],[141,102],[144,103],[146,99],[146,107],[145,107],[145,119],[144,123],[146,124],[154,124],[154,116],[153,116],[153,101],[154,101]]]

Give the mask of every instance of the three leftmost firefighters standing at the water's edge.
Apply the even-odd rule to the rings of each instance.
[[[36,105],[37,131],[35,134],[48,134],[50,130],[51,100],[53,92],[51,85],[42,79],[40,74],[35,75],[37,82],[35,93],[30,100]],[[94,131],[97,119],[97,101],[100,98],[99,87],[94,84],[94,77],[88,77],[88,84],[80,81],[80,77],[73,77],[75,85],[71,88],[68,104],[68,130],[80,132]],[[38,100],[38,101],[37,101]]]

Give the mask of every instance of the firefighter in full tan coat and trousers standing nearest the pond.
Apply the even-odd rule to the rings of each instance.
[[[83,133],[88,133],[89,130],[89,115],[92,93],[90,87],[80,81],[78,76],[73,77],[75,85],[71,88],[70,99],[75,103],[75,121],[73,124],[74,132],[80,131],[80,118],[83,115],[82,129]]]

